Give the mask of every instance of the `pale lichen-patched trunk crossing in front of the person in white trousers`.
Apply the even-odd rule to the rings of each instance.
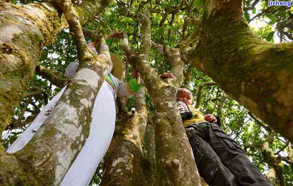
[[[59,2],[58,6],[78,45],[80,69],[29,143],[14,154],[1,154],[1,185],[60,184],[88,137],[97,92],[112,66],[103,38],[100,39],[100,55],[87,47],[71,2]]]

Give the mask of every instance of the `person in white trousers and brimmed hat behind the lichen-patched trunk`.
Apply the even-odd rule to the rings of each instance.
[[[89,44],[91,50],[97,54],[94,46],[94,42]],[[131,97],[140,87],[139,73],[134,74],[136,78],[132,78],[128,83],[125,83],[119,79],[123,73],[121,61],[115,54],[111,54],[111,60],[113,62],[112,72],[106,76],[94,101],[88,138],[61,181],[61,186],[87,186],[89,184],[113,137],[116,122],[116,97]],[[77,68],[78,63],[70,63],[65,70],[65,75],[68,78],[73,78],[76,75]],[[66,87],[67,85],[46,105],[26,131],[10,146],[7,150],[8,153],[21,150],[31,140],[43,122],[50,117],[50,113],[54,112],[53,109]],[[83,138],[83,136],[80,136],[80,138]],[[66,154],[61,155],[66,158]]]

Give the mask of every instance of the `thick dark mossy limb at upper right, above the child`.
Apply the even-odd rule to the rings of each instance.
[[[271,44],[257,37],[241,6],[240,0],[206,1],[201,32],[182,56],[293,141],[293,43]]]

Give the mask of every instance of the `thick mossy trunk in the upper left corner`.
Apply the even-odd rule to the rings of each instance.
[[[111,1],[87,0],[92,12],[101,12]],[[82,7],[76,12],[81,24],[92,19]],[[0,3],[0,133],[14,114],[27,90],[43,46],[54,43],[66,27],[55,6],[48,3],[12,5]]]

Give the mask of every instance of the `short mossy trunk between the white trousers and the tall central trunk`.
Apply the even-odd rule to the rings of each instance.
[[[145,88],[135,94],[137,112],[119,112],[111,145],[104,158],[105,169],[101,185],[150,185],[147,182],[150,162],[143,153],[143,138],[147,125]]]

